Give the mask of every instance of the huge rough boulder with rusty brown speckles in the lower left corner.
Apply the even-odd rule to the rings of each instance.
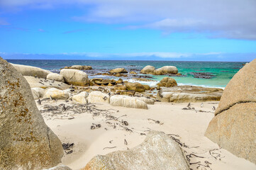
[[[0,169],[57,166],[62,143],[45,125],[26,79],[1,57],[0,89]]]

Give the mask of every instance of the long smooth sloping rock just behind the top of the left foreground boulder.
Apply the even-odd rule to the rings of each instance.
[[[48,70],[40,69],[38,67],[21,65],[21,64],[12,64],[12,65],[23,76],[40,77],[40,78],[46,79],[47,75],[52,73]]]

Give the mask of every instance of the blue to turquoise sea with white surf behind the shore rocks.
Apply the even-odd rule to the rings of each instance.
[[[205,87],[219,87],[224,89],[228,81],[243,67],[245,62],[178,62],[178,61],[130,61],[130,60],[7,60],[13,64],[24,64],[52,72],[60,72],[60,69],[72,65],[89,65],[93,70],[85,71],[89,78],[101,77],[106,79],[119,79],[119,77],[94,76],[95,73],[108,72],[110,69],[123,67],[130,71],[140,72],[143,67],[152,65],[156,69],[163,66],[175,66],[184,77],[172,77],[178,85],[195,85]],[[194,74],[206,73],[211,79],[194,78]],[[166,76],[152,76],[150,79],[160,81]],[[133,81],[132,77],[122,77],[123,80]],[[157,82],[140,82],[142,84],[155,85]]]

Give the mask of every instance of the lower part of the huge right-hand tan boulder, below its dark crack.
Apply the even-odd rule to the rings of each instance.
[[[256,164],[256,103],[239,103],[216,115],[206,137],[223,149]]]

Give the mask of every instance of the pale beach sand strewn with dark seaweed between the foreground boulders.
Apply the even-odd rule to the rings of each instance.
[[[108,152],[125,150],[139,145],[145,139],[145,135],[140,135],[140,133],[147,133],[148,131],[145,132],[145,130],[158,130],[167,134],[179,135],[181,142],[184,142],[189,147],[196,147],[183,148],[187,151],[187,154],[195,153],[200,157],[204,157],[192,157],[191,162],[201,162],[201,164],[206,165],[205,161],[208,161],[211,163],[209,164],[211,169],[256,169],[255,164],[236,157],[226,149],[220,149],[216,143],[204,137],[208,123],[214,116],[211,108],[212,106],[217,108],[218,102],[205,102],[203,108],[200,107],[200,103],[191,103],[191,107],[196,110],[209,111],[211,113],[182,110],[186,106],[187,103],[155,103],[155,105],[149,105],[148,110],[143,110],[114,107],[107,103],[96,103],[97,108],[114,108],[118,110],[119,112],[113,114],[116,117],[127,115],[119,118],[119,120],[126,120],[129,123],[128,128],[131,128],[133,132],[122,130],[118,126],[113,129],[106,124],[104,117],[99,115],[93,118],[89,113],[76,115],[72,120],[45,119],[45,123],[60,137],[62,142],[74,142],[74,152],[65,154],[62,159],[62,164],[74,170],[84,167],[96,154],[107,154]],[[156,124],[154,121],[148,120],[148,118],[159,120],[163,124]],[[101,128],[91,130],[91,123],[100,123]],[[125,139],[128,145],[124,144]],[[110,143],[109,141],[111,140],[112,142]],[[104,147],[116,148],[104,149]],[[221,160],[214,159],[208,152],[210,149],[217,149],[214,153],[220,154]],[[196,169],[196,166],[199,165],[193,164],[191,168]],[[204,169],[204,167],[200,166],[199,169]]]

